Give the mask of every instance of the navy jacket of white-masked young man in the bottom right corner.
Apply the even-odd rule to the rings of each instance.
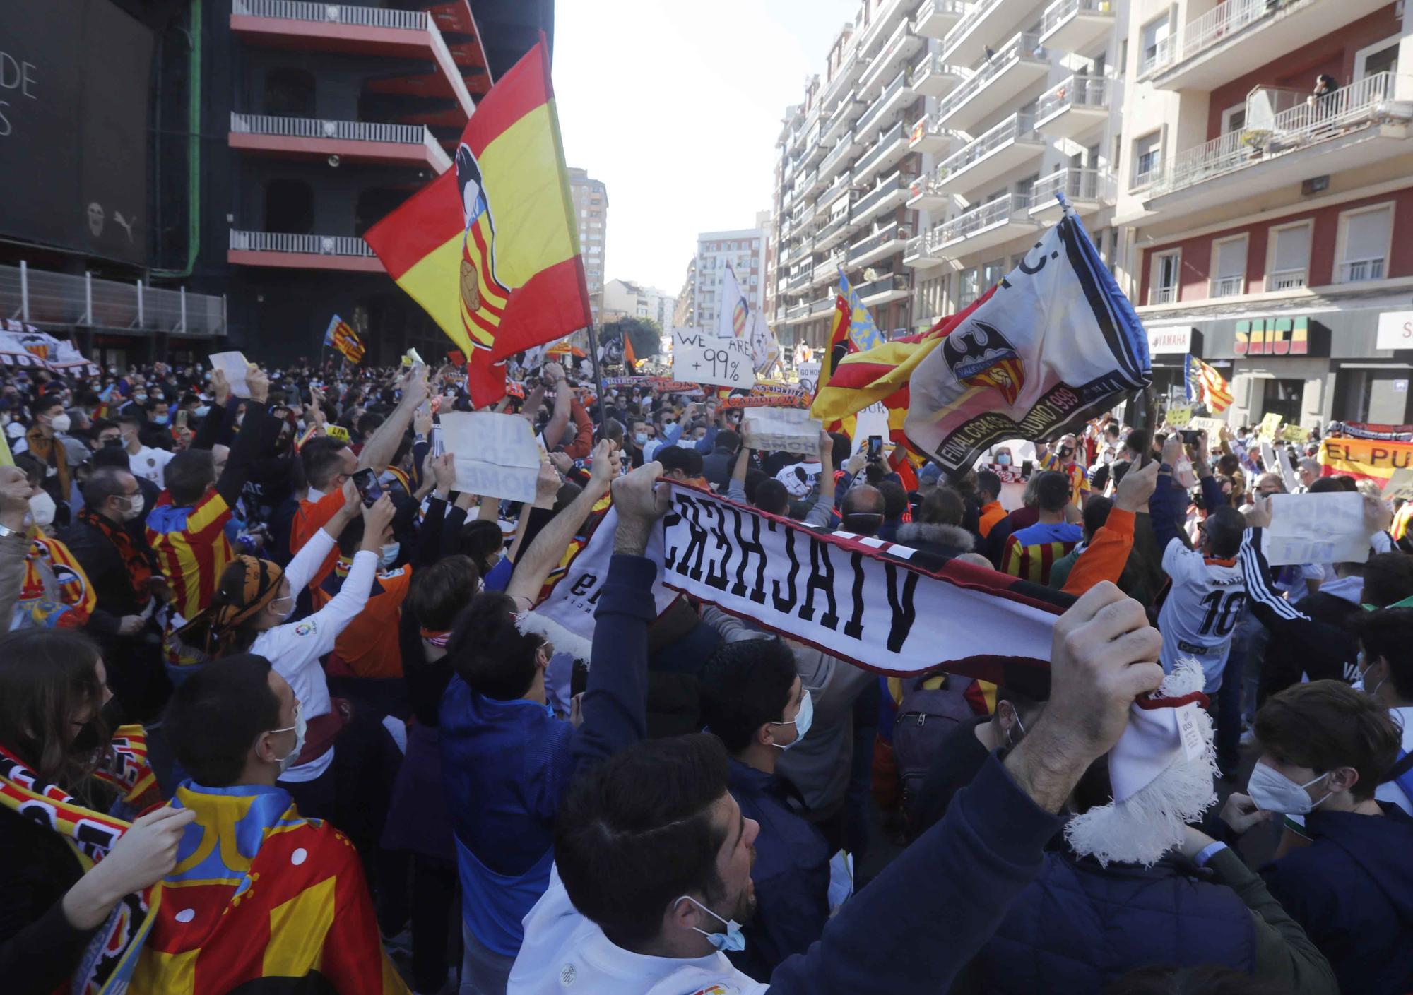
[[[1413,991],[1413,816],[1314,810],[1308,847],[1262,868],[1270,893],[1330,958],[1340,991]]]

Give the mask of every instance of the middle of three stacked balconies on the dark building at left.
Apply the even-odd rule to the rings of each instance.
[[[338,155],[353,163],[430,165],[437,172],[445,172],[451,167],[447,151],[421,124],[372,124],[232,113],[226,143],[232,148],[292,158]]]

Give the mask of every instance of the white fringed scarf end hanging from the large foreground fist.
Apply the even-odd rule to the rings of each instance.
[[[1201,666],[1183,657],[1157,691],[1129,707],[1129,725],[1109,750],[1113,801],[1070,820],[1065,840],[1074,852],[1101,865],[1152,866],[1183,842],[1183,825],[1217,800],[1202,683]]]

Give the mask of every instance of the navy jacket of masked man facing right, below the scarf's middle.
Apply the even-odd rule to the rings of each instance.
[[[803,954],[829,920],[829,844],[801,814],[804,800],[783,777],[731,762],[729,790],[740,814],[760,823],[756,862],[756,917],[746,927],[746,950],[732,962],[757,981],[770,978],[790,954]]]

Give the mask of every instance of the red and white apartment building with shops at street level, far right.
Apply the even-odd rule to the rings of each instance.
[[[1135,0],[1118,220],[1160,387],[1191,352],[1232,382],[1236,423],[1413,417],[1410,18]]]

